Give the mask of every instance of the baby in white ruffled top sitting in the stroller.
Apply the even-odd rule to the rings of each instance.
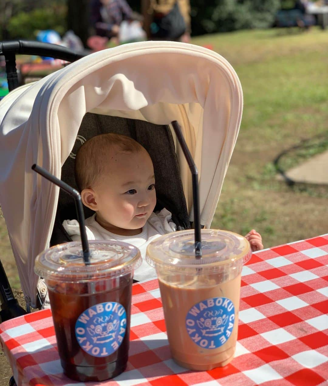
[[[89,240],[118,240],[140,249],[143,259],[150,241],[176,231],[165,208],[154,213],[155,176],[148,152],[134,139],[120,134],[101,134],[86,141],[75,159],[75,179],[83,204],[95,211],[86,219]],[[65,220],[64,229],[73,241],[80,240],[76,220]],[[245,236],[252,251],[263,248],[253,229]],[[145,259],[134,279],[155,277]]]

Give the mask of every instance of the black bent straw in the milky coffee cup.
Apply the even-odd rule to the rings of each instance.
[[[199,186],[198,186],[198,170],[194,163],[193,157],[190,154],[186,141],[182,135],[180,125],[177,121],[171,122],[176,137],[182,148],[183,154],[186,157],[193,181],[193,202],[194,202],[194,229],[195,229],[195,256],[196,259],[201,258],[201,231],[200,231],[200,203],[199,203]]]

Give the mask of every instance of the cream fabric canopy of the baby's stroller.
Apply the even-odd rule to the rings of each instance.
[[[0,205],[27,301],[36,304],[34,259],[49,247],[59,194],[31,166],[37,163],[61,178],[86,112],[160,125],[177,120],[198,168],[201,223],[208,228],[242,103],[238,76],[220,55],[191,44],[151,41],[96,52],[3,98]],[[179,145],[176,153],[193,220],[191,174]]]

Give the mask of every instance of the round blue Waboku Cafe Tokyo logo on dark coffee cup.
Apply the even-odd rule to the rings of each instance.
[[[75,323],[80,347],[94,357],[112,354],[120,347],[127,328],[127,313],[120,303],[108,301],[81,313]]]

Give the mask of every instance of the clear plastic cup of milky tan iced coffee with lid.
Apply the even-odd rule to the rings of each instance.
[[[207,371],[225,366],[235,353],[240,278],[250,244],[238,234],[201,231],[201,259],[194,231],[167,234],[147,247],[156,267],[167,338],[179,366]]]

